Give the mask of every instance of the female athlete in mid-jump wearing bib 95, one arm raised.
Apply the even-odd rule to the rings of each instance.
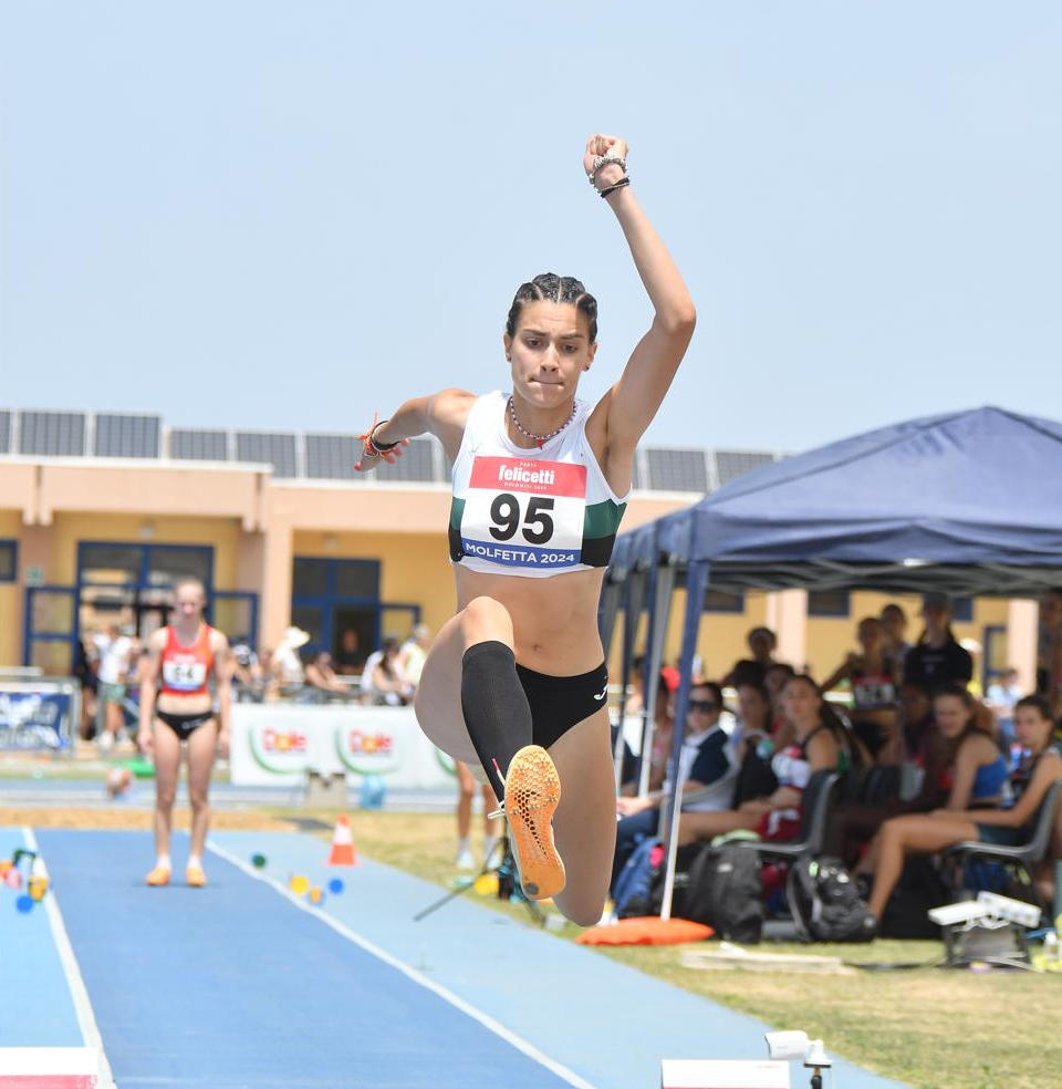
[[[502,338],[512,393],[450,388],[407,401],[363,436],[356,468],[393,461],[425,433],[450,458],[458,611],[431,645],[417,718],[439,748],[483,768],[502,799],[524,892],[552,896],[590,925],[604,906],[616,841],[597,602],[635,447],[695,313],[634,197],[626,144],[591,136],[583,167],[620,220],[655,311],[620,380],[596,405],[576,400],[597,351],[597,303],[579,280],[537,276],[518,289]]]

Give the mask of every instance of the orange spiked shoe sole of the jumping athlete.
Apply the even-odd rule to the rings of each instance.
[[[546,900],[564,889],[564,863],[553,844],[553,813],[561,778],[540,745],[520,749],[506,776],[506,818],[520,884],[529,900]]]

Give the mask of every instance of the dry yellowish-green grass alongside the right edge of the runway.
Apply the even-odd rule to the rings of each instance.
[[[271,812],[315,816],[324,821],[334,816]],[[455,877],[452,817],[357,811],[352,823],[361,853],[450,886]],[[520,921],[528,919],[520,904],[472,892],[466,895]],[[577,933],[577,927],[568,924],[556,936],[574,940]],[[822,1037],[827,1050],[916,1089],[1052,1089],[1062,1085],[1062,975],[977,975],[928,966],[845,975],[705,971],[680,963],[686,948],[689,946],[627,946],[598,947],[598,952],[778,1028],[800,1028]],[[938,942],[885,940],[870,945],[815,946],[772,942],[760,948],[832,954],[863,964],[933,965],[944,954]]]

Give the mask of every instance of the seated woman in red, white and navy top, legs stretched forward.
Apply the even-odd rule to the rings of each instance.
[[[800,832],[801,798],[812,774],[843,774],[860,759],[855,739],[810,676],[790,677],[782,688],[781,705],[792,740],[771,760],[778,788],[769,797],[742,802],[738,809],[684,812],[678,822],[680,847],[742,829],[763,839],[792,839]]]

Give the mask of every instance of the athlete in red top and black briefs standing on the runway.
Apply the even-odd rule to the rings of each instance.
[[[169,833],[180,774],[180,745],[188,743],[188,796],[191,850],[185,877],[205,885],[202,848],[210,808],[207,790],[215,753],[229,750],[231,660],[229,641],[202,620],[206,592],[198,579],[185,579],[174,594],[171,624],[155,632],[142,660],[140,730],[137,743],[155,758],[155,865],[149,885],[169,883]],[[209,682],[214,677],[218,709]]]

